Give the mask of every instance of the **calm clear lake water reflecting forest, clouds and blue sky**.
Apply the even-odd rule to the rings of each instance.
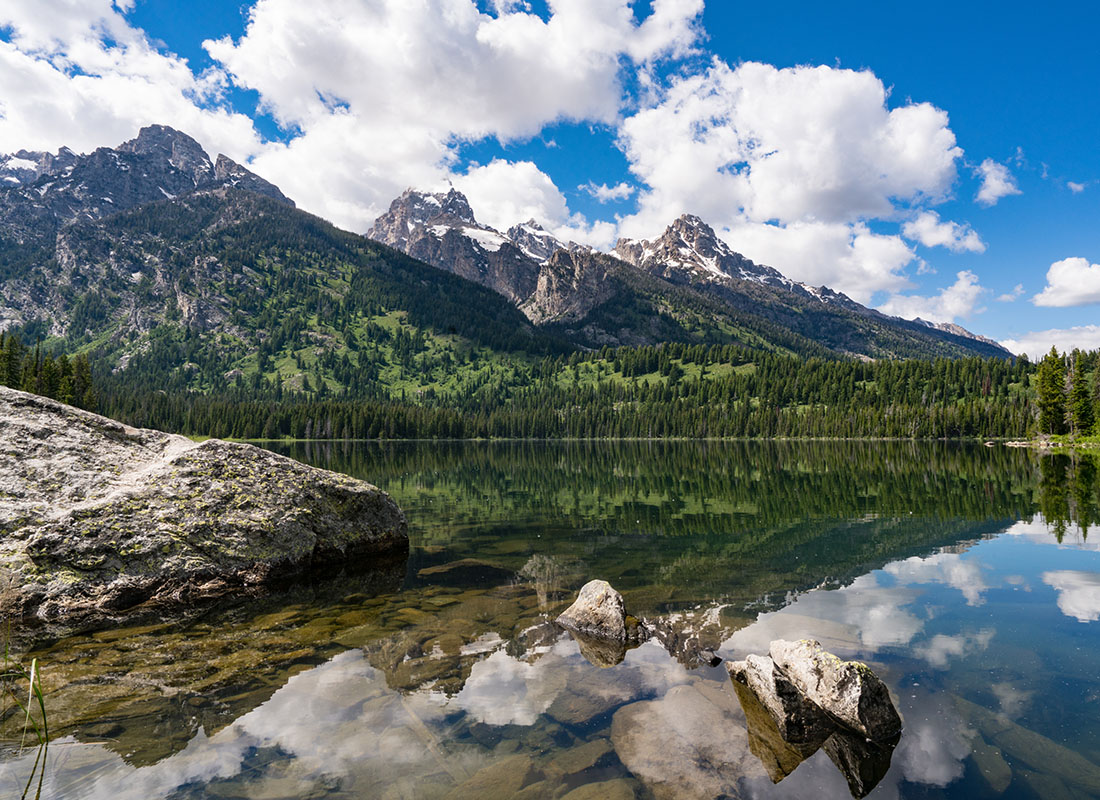
[[[1091,460],[946,443],[273,448],[391,492],[407,562],[34,645],[43,798],[1100,797]],[[556,628],[593,578],[660,638],[616,651]],[[802,637],[883,678],[895,747],[784,747],[708,666]],[[36,755],[0,752],[0,796],[19,797]]]

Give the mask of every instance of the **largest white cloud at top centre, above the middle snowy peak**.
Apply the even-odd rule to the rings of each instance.
[[[512,2],[482,13],[473,0],[258,0],[242,37],[205,46],[297,131],[257,171],[308,210],[365,230],[405,187],[448,177],[499,204],[491,175],[452,175],[458,146],[557,121],[614,123],[624,69],[686,53],[701,11],[702,0],[658,0],[639,22],[627,0],[556,0],[546,19]]]

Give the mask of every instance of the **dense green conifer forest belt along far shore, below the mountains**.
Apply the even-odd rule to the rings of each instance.
[[[1033,427],[1024,360],[839,361],[683,343],[477,358],[418,380],[395,372],[366,396],[243,377],[220,392],[138,393],[111,376],[102,405],[134,425],[235,438],[1008,438]]]

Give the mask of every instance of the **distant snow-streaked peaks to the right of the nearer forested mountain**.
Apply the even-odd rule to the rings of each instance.
[[[366,235],[488,286],[532,324],[583,347],[726,333],[779,347],[802,337],[849,357],[1008,355],[959,326],[890,317],[792,281],[735,252],[692,215],[654,240],[620,239],[612,253],[600,253],[558,241],[534,219],[503,233],[480,224],[453,188],[408,189]]]

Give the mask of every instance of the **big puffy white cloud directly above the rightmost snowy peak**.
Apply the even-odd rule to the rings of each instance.
[[[897,202],[944,199],[963,151],[944,111],[890,109],[887,99],[872,73],[826,66],[716,59],[674,78],[619,129],[630,169],[647,187],[624,235],[652,237],[692,212],[749,257],[798,280],[864,302],[905,287],[901,270],[912,250],[866,221],[893,217]]]

